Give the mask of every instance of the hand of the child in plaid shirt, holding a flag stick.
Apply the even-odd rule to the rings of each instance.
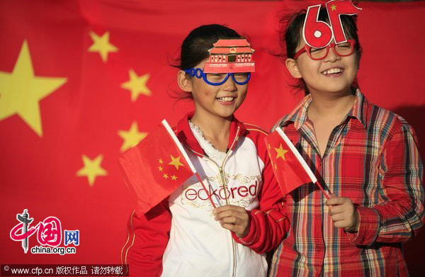
[[[344,228],[346,232],[357,232],[360,223],[356,206],[350,198],[331,195],[325,205],[329,206],[329,215],[334,226]]]

